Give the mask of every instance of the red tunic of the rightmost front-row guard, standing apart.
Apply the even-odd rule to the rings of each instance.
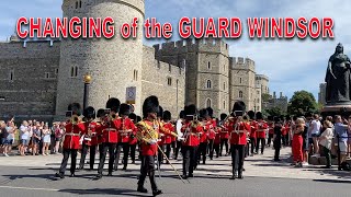
[[[241,121],[238,125],[230,123],[229,124],[230,144],[246,144],[247,143],[247,134],[249,131],[250,131],[250,124],[249,123]]]

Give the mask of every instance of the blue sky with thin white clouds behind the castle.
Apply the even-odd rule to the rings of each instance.
[[[226,40],[230,56],[249,57],[256,61],[258,73],[270,78],[270,90],[283,92],[291,97],[295,91],[307,90],[318,95],[324,82],[327,62],[340,42],[349,56],[351,49],[351,1],[339,0],[145,0],[146,18],[170,22],[177,34],[177,24],[182,16],[240,18],[244,34],[240,39]],[[61,16],[61,0],[2,0],[0,3],[0,40],[14,32],[20,16]],[[247,34],[247,18],[332,18],[335,39],[250,40]],[[172,40],[179,37],[173,36]],[[160,40],[147,40],[152,45]]]

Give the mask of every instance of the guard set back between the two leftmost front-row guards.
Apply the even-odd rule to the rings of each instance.
[[[98,123],[94,121],[95,119],[95,109],[92,106],[89,106],[84,109],[83,116],[86,117],[87,121],[84,123],[86,132],[82,142],[82,153],[80,155],[80,164],[79,169],[82,170],[84,167],[86,157],[88,150],[90,149],[90,170],[93,170],[95,163],[95,152],[98,146]]]

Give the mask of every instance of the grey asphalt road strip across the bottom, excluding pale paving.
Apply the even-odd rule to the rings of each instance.
[[[262,169],[264,171],[264,169]],[[117,171],[114,176],[104,176],[92,181],[95,171],[79,171],[76,177],[56,181],[56,169],[49,167],[11,167],[0,169],[0,196],[3,197],[65,197],[65,196],[151,196],[150,185],[145,187],[148,194],[136,192],[137,170]],[[69,172],[68,172],[69,174]],[[104,172],[106,174],[106,172]],[[202,196],[350,196],[350,181],[294,179],[270,177],[245,177],[230,181],[229,176],[201,174],[183,184],[176,174],[162,173],[157,183],[166,197]]]

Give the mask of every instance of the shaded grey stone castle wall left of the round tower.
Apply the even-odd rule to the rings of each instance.
[[[50,42],[0,43],[0,119],[53,117],[59,49]]]

